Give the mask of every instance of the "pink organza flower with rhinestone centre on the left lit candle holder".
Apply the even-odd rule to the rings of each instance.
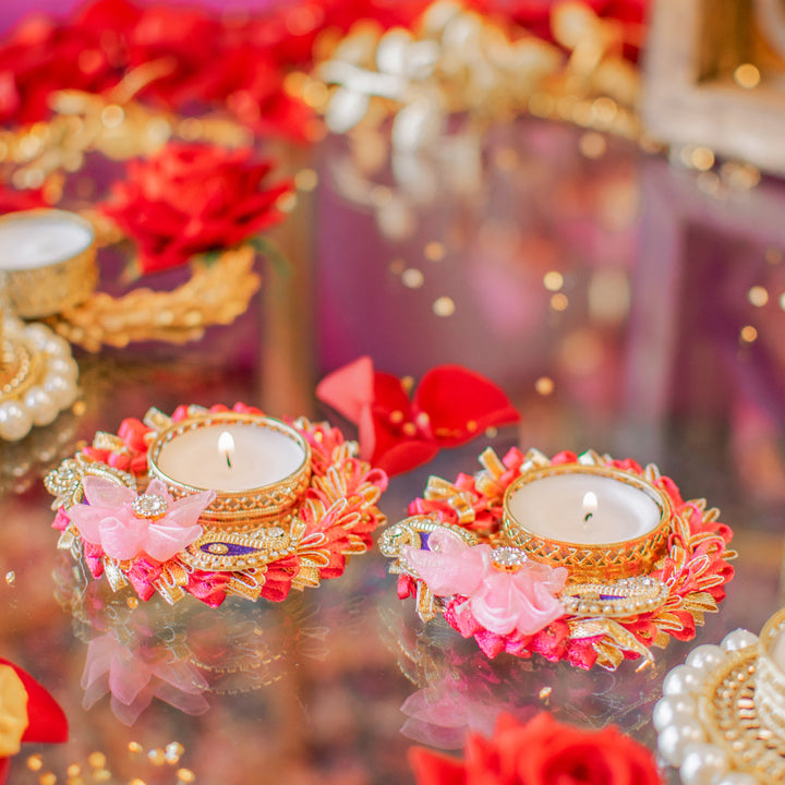
[[[141,495],[95,476],[83,486],[89,504],[71,507],[69,519],[86,542],[121,560],[170,559],[202,534],[198,517],[215,498],[215,491],[204,491],[174,502],[160,480]]]

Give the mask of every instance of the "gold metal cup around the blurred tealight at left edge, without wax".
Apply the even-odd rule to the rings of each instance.
[[[51,316],[80,305],[98,286],[95,230],[88,220],[67,210],[41,208],[10,213],[0,217],[0,226],[35,221],[43,216],[77,224],[88,232],[89,241],[82,251],[59,262],[0,273],[0,299],[22,318]]]

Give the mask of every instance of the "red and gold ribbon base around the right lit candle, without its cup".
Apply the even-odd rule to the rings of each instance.
[[[548,460],[512,448],[504,459],[486,449],[475,475],[452,483],[431,478],[412,516],[379,542],[394,558],[398,596],[416,599],[420,618],[438,615],[488,657],[540,654],[573,666],[615,669],[624,660],[653,662],[652,647],[690,640],[705,613],[717,611],[733,578],[730,529],[704,499],[685,502],[653,464],[589,451]],[[532,467],[608,468],[643,480],[666,502],[666,540],[649,569],[620,579],[587,581],[572,567],[541,564],[514,546],[504,528],[505,493]],[[661,538],[662,540],[662,538]]]

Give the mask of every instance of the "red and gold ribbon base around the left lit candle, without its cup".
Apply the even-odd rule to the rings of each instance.
[[[179,407],[169,423],[229,412]],[[262,415],[235,404],[232,412]],[[174,502],[162,482],[150,480],[147,452],[158,416],[124,420],[117,434],[98,433],[93,444],[63,461],[46,479],[56,496],[58,546],[84,556],[95,578],[112,589],[131,584],[142,600],[155,593],[173,604],[193,594],[217,607],[228,595],[283,600],[292,589],[316,587],[342,575],[351,555],[367,551],[385,521],[376,503],[386,474],[355,458],[358,446],[338,428],[300,418],[290,426],[310,447],[304,493],[280,520],[238,520],[231,531],[201,514],[214,492]]]

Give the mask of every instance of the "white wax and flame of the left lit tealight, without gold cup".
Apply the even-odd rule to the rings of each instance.
[[[251,423],[217,422],[166,442],[156,462],[177,483],[220,494],[273,485],[294,474],[305,460],[305,450],[286,434]]]

